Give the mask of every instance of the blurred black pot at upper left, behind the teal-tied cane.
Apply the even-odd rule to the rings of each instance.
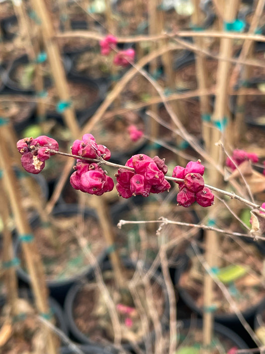
[[[64,69],[65,69],[66,73],[68,73],[71,69],[72,61],[66,55],[64,55],[62,57],[62,60],[63,60]],[[13,77],[15,71],[18,70],[19,66],[21,66],[21,65],[26,66],[27,64],[30,64],[30,61],[28,59],[28,56],[25,54],[19,58],[16,58],[13,61],[10,69],[7,71],[5,86],[8,89],[10,89],[12,92],[19,93],[19,94],[27,94],[27,95],[34,94],[35,89],[34,89],[33,84],[23,87],[23,85],[21,85],[20,82],[16,81]],[[46,88],[49,87],[51,85],[51,83],[52,83],[51,77],[44,77],[44,86]]]

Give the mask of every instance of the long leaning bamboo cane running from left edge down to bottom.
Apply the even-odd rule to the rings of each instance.
[[[6,141],[6,127],[0,128],[0,166],[3,170],[4,186],[8,195],[12,213],[16,223],[16,229],[19,235],[31,235],[31,229],[27,221],[25,212],[21,205],[21,196],[14,172],[10,165],[8,153],[8,142]],[[36,247],[34,239],[31,242],[22,242],[22,251],[24,253],[26,266],[31,279],[31,286],[36,300],[36,307],[41,314],[47,314],[49,311],[47,301],[47,288],[45,283],[45,274],[41,258]],[[47,327],[43,328],[47,335],[47,351],[51,354],[57,353],[57,345],[54,337]]]

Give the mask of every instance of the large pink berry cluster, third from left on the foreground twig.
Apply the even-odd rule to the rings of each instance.
[[[169,191],[171,185],[165,179],[168,167],[165,159],[158,156],[151,158],[145,154],[133,155],[125,164],[134,169],[119,168],[116,189],[123,198],[142,195],[148,197],[150,193]]]

